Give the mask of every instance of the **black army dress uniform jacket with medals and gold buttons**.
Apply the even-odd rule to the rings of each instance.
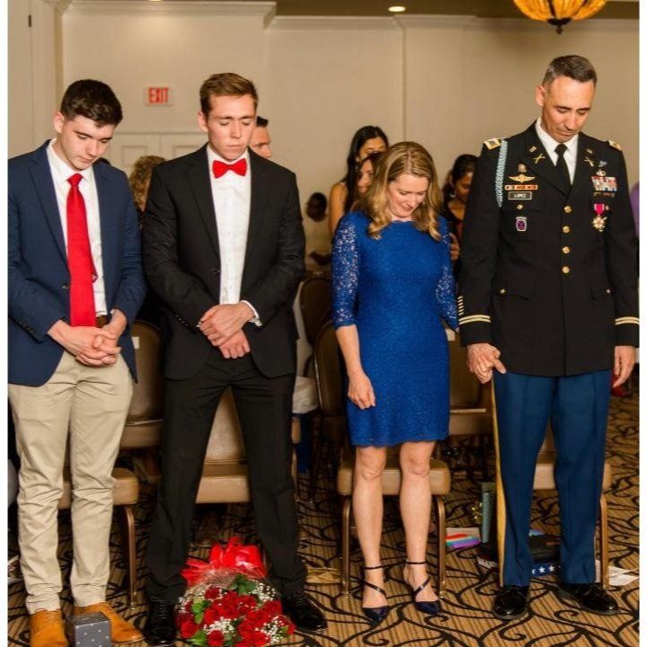
[[[613,367],[638,345],[636,236],[625,159],[580,133],[570,191],[533,123],[483,145],[465,214],[462,344],[492,343],[515,373]]]

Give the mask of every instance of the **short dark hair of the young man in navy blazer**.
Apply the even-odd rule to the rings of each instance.
[[[77,115],[93,120],[97,126],[117,126],[123,119],[121,104],[109,85],[82,79],[69,85],[61,100],[60,112],[66,120]]]

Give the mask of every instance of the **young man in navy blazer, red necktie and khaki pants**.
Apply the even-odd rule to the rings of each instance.
[[[146,292],[128,179],[94,164],[120,120],[108,85],[76,81],[57,137],[9,161],[9,399],[31,647],[67,645],[57,513],[68,439],[74,613],[105,614],[114,643],[141,640],[105,601],[111,473],[135,375],[129,324]]]

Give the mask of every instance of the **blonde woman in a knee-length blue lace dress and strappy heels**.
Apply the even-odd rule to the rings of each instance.
[[[415,606],[439,612],[426,552],[430,456],[449,421],[448,342],[456,329],[448,226],[430,154],[401,142],[380,156],[361,210],[341,218],[332,245],[332,318],[348,372],[350,441],[356,448],[353,514],[364,556],[362,610],[388,613],[380,564],[382,471],[401,445],[404,579]]]

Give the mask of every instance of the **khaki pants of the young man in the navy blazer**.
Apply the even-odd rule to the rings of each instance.
[[[43,386],[9,385],[21,459],[18,528],[26,606],[58,609],[58,501],[69,437],[74,563],[70,585],[81,607],[105,599],[114,467],[132,396],[123,358],[86,367],[67,353]]]

